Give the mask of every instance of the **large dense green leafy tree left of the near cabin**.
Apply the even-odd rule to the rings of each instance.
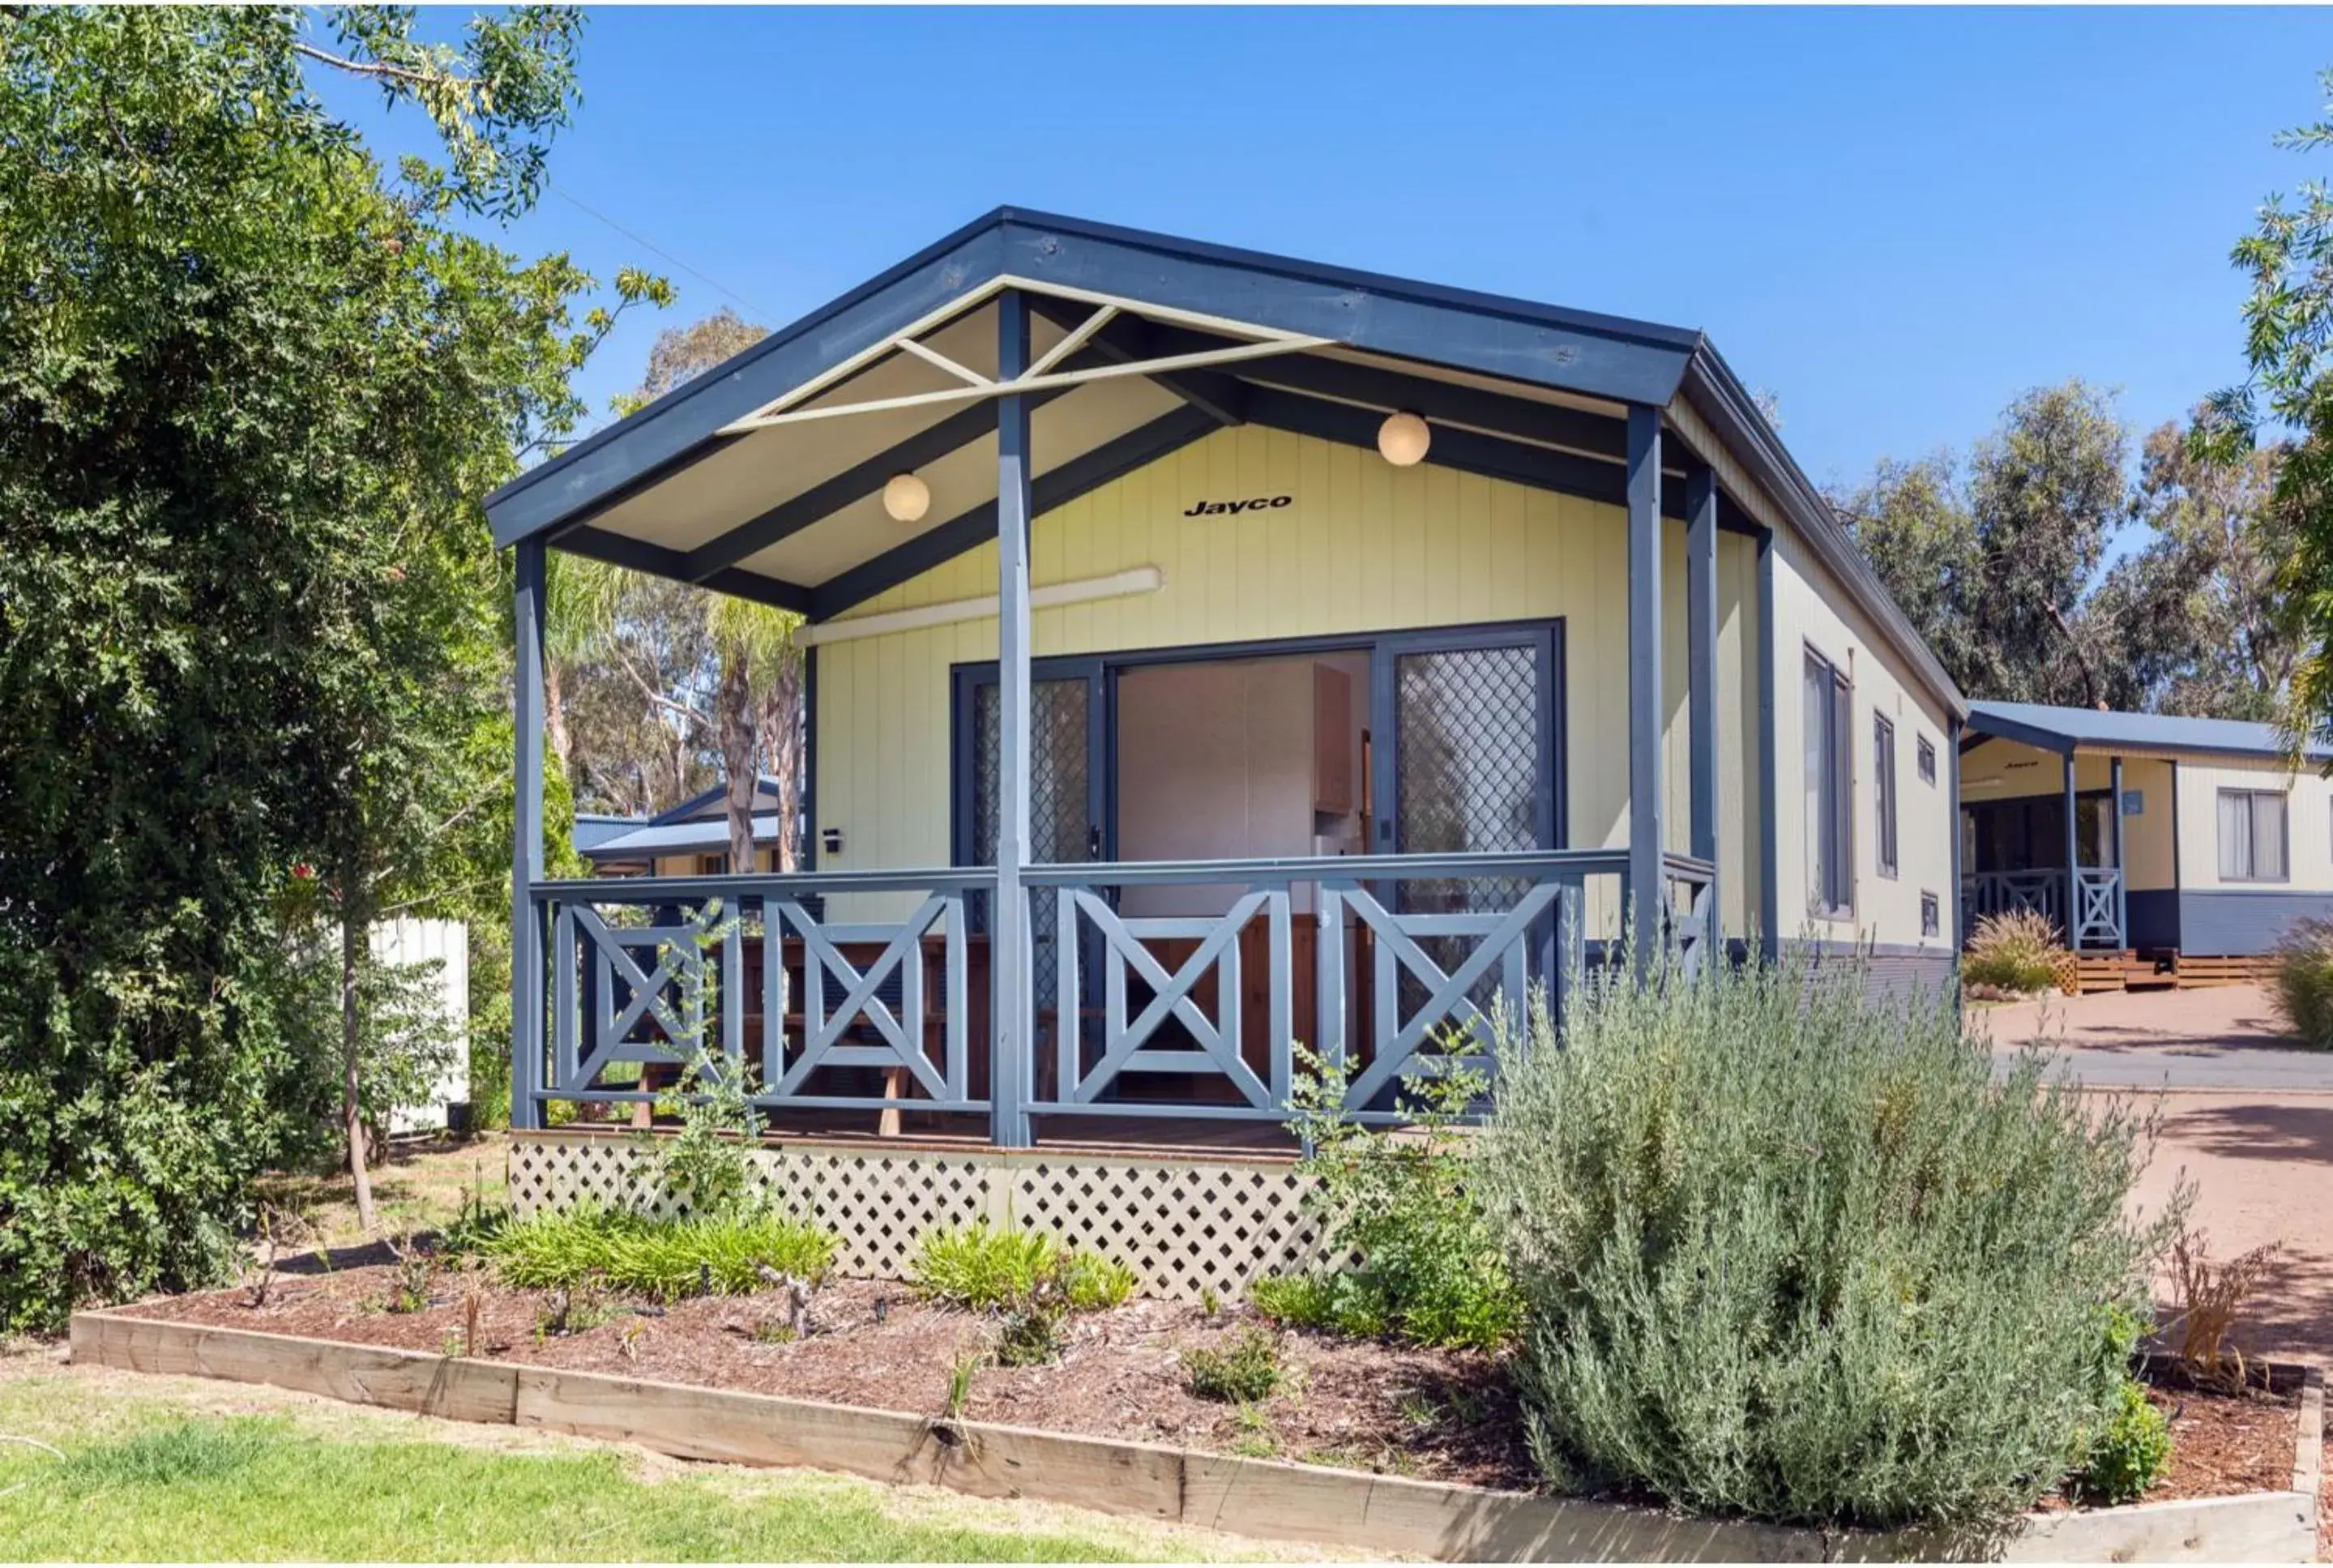
[[[352,936],[490,894],[490,861],[457,863],[509,756],[478,497],[583,413],[569,376],[611,315],[576,317],[595,285],[567,257],[462,229],[539,189],[579,19],[411,23],[0,16],[9,1328],[226,1267],[296,1101],[294,863]],[[420,107],[443,161],[392,175],[310,72]]]

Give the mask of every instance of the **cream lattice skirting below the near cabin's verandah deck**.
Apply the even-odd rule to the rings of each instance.
[[[518,1134],[511,1204],[635,1204],[646,1157],[625,1134]],[[1274,1160],[772,1143],[756,1164],[763,1195],[833,1230],[835,1267],[861,1279],[903,1279],[917,1237],[980,1218],[1115,1258],[1146,1295],[1178,1302],[1234,1302],[1253,1279],[1323,1262],[1311,1178]]]

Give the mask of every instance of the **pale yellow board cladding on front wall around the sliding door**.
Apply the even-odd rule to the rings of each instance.
[[[1201,502],[1285,506],[1190,516]],[[1036,656],[1183,649],[1407,628],[1563,621],[1570,847],[1628,842],[1626,525],[1619,506],[1276,429],[1232,427],[1036,520],[1031,581],[1155,565],[1157,593],[1038,609]],[[1663,530],[1663,772],[1687,847],[1684,523]],[[992,595],[996,546],[891,588],[854,614]],[[1717,541],[1719,821],[1726,926],[1754,910],[1757,548]],[[950,861],[950,667],[996,658],[996,621],[831,642],[819,649],[821,870]],[[1934,728],[1941,735],[1941,726]],[[1787,751],[1785,751],[1787,756]],[[852,917],[891,903],[856,901]],[[894,901],[896,903],[896,901]],[[840,908],[840,901],[838,901]]]

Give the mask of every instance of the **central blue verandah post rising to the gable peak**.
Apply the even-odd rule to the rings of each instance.
[[[1029,366],[1029,303],[996,296],[996,378]],[[1027,1085],[1036,1059],[1036,966],[1029,952],[1029,399],[996,399],[996,908],[989,980],[989,1141],[1029,1146]],[[1076,1020],[1062,1020],[1062,1029]]]

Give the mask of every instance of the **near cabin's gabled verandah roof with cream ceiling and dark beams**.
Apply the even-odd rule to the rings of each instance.
[[[1029,364],[999,371],[999,313]],[[1691,406],[1659,506],[1719,469],[1719,527],[1768,502],[1918,679],[1962,700],[1829,506],[1698,331],[1001,208],[770,334],[492,497],[523,539],[831,621],[996,537],[996,404],[1029,406],[1036,513],[1225,425],[1376,446],[1432,427],[1428,462],[1624,504],[1628,408]],[[922,481],[901,520],[884,485]],[[1733,476],[1761,495],[1733,495]]]

